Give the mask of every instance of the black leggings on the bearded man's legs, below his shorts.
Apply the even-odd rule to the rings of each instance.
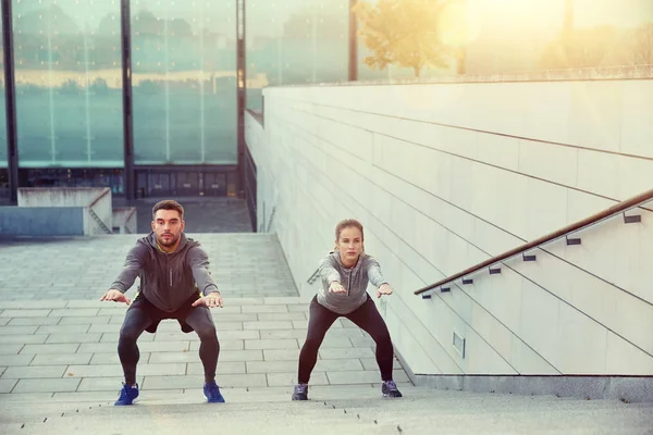
[[[125,374],[127,385],[136,384],[136,364],[140,358],[136,340],[140,334],[152,323],[155,319],[146,309],[133,307],[127,310],[120,338],[118,340],[118,356]],[[218,355],[220,353],[220,344],[215,333],[215,324],[211,312],[206,307],[194,307],[188,310],[185,322],[199,336],[199,359],[205,370],[205,381],[215,380],[215,370],[218,366]]]

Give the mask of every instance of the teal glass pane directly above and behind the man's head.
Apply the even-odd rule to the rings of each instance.
[[[134,0],[132,85],[137,164],[233,164],[233,0]]]

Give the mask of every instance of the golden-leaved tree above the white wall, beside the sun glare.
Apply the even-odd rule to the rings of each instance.
[[[379,70],[390,64],[411,67],[416,77],[423,67],[448,66],[439,32],[446,4],[446,0],[378,0],[374,7],[358,2],[354,8],[358,34],[373,52],[364,62]]]

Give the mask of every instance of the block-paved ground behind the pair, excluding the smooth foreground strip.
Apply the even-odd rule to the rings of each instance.
[[[289,396],[308,302],[297,297],[275,237],[189,236],[207,249],[225,299],[223,309],[213,310],[222,348],[219,384],[282,387]],[[107,400],[116,395],[122,377],[116,341],[126,307],[98,298],[137,237],[12,241],[0,248],[0,402]],[[174,321],[164,322],[155,335],[144,334],[141,396],[190,394],[201,399],[198,345],[195,334],[181,333]],[[311,383],[378,385],[373,349],[366,333],[348,321],[336,322]],[[408,382],[401,368],[395,375],[397,382]]]

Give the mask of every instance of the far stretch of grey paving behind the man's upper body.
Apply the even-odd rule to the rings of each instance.
[[[208,252],[211,271],[225,297],[297,295],[274,235],[187,235]],[[3,240],[0,301],[94,300],[115,279],[139,237],[143,235]]]

